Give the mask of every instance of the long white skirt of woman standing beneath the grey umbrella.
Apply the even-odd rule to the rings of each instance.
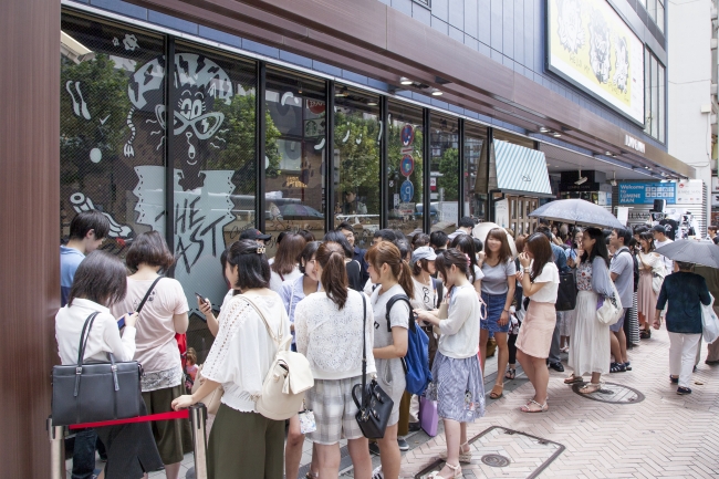
[[[580,291],[570,342],[569,366],[575,376],[609,372],[609,326],[596,319],[597,294]]]

